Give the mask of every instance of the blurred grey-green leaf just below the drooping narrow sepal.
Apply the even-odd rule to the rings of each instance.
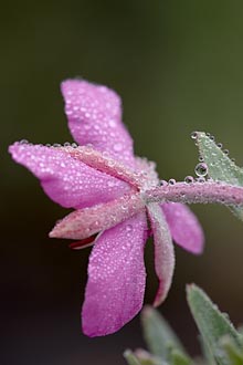
[[[159,314],[151,306],[145,306],[141,312],[141,324],[144,337],[149,351],[165,361],[168,361],[172,348],[178,348],[184,353],[180,341]]]

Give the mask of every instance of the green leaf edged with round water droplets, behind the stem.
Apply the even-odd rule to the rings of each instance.
[[[193,134],[199,154],[208,166],[208,175],[213,180],[243,186],[243,168],[237,167],[228,155],[204,132]],[[243,220],[242,207],[230,209]]]

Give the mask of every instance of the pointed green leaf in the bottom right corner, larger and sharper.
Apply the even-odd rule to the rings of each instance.
[[[197,285],[187,286],[188,303],[194,321],[201,332],[203,342],[213,355],[216,364],[228,365],[229,361],[222,356],[219,341],[228,335],[236,348],[241,350],[241,335],[236,332],[228,316],[221,313],[209,296]]]

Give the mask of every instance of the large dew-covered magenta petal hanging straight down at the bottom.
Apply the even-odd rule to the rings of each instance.
[[[118,331],[141,309],[146,271],[145,213],[103,232],[93,248],[82,311],[83,332],[103,336]]]

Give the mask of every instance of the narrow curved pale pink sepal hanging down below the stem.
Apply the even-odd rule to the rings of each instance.
[[[165,301],[171,285],[175,253],[169,227],[159,205],[157,202],[149,204],[147,209],[154,234],[155,269],[159,279],[159,288],[154,305],[158,306]]]

